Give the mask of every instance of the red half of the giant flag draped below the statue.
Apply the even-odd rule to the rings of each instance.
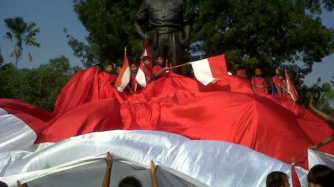
[[[132,96],[115,92],[116,99],[99,100],[97,77],[94,69],[79,72],[60,94],[53,115],[15,100],[1,99],[0,107],[34,129],[36,143],[110,129],[159,130],[244,145],[286,163],[295,158],[305,169],[307,148],[333,133],[323,120],[285,98],[200,92],[195,79],[170,74]],[[87,85],[69,89],[80,82]],[[334,154],[334,144],[320,150]]]

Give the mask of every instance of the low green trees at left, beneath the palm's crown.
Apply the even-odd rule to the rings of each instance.
[[[34,69],[16,69],[11,63],[0,67],[0,98],[26,101],[45,110],[52,111],[62,87],[80,71],[70,67],[64,56],[51,59]]]

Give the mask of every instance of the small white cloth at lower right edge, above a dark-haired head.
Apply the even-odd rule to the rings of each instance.
[[[334,155],[312,149],[309,149],[307,151],[307,154],[309,169],[311,169],[315,165],[326,165],[334,169]]]

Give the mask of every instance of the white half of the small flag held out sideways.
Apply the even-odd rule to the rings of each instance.
[[[190,63],[194,71],[194,75],[199,82],[207,86],[209,83],[217,81],[216,78],[213,78],[209,60],[207,58]]]

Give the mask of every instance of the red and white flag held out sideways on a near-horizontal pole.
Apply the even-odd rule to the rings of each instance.
[[[227,67],[224,55],[190,62],[196,79],[207,86],[227,76]]]

